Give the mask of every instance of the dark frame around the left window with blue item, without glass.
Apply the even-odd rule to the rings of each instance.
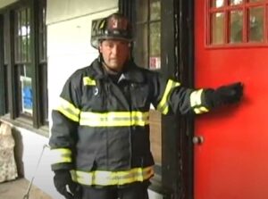
[[[32,94],[33,94],[33,107],[32,107],[32,116],[26,116],[20,114],[19,97],[18,92],[21,92],[18,87],[18,80],[16,79],[16,62],[15,62],[15,12],[23,9],[24,7],[29,7],[30,17],[29,17],[29,26],[30,26],[30,57],[32,59]],[[42,7],[42,9],[40,9]],[[3,10],[0,10],[3,13],[6,24],[4,24],[7,32],[4,35],[4,40],[8,41],[7,49],[7,70],[8,70],[8,86],[4,87],[5,92],[8,93],[8,110],[9,112],[0,112],[0,116],[4,116],[4,120],[10,120],[11,122],[16,122],[17,119],[27,120],[27,127],[33,129],[39,129],[43,126],[48,127],[48,102],[47,102],[47,62],[46,59],[40,61],[39,56],[39,24],[43,22],[43,25],[46,24],[46,20],[40,21],[40,10],[45,9],[46,11],[46,0],[26,0],[23,2],[13,3],[4,7]],[[43,16],[43,13],[42,13]],[[46,26],[43,26],[46,28]],[[46,38],[46,29],[44,29],[44,35]],[[46,54],[46,41],[42,43],[45,46]],[[2,101],[2,99],[0,99]],[[46,105],[44,105],[46,104]],[[4,105],[6,109],[7,104]],[[25,123],[25,122],[24,122]],[[21,123],[23,126],[23,124]]]

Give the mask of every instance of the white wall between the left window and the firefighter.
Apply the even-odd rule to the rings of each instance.
[[[88,66],[98,55],[97,50],[90,46],[91,21],[116,11],[117,8],[111,8],[104,12],[47,25],[50,111],[55,106],[63,84],[71,73]]]

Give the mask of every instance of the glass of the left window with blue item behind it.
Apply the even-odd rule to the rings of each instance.
[[[14,53],[15,53],[15,73],[16,86],[19,90],[18,107],[19,114],[32,116],[33,93],[32,76],[33,62],[31,58],[30,42],[30,10],[21,8],[14,14]]]

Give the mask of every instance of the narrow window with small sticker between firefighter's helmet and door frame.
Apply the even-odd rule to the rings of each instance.
[[[134,58],[138,65],[150,70],[161,67],[160,0],[138,0]]]

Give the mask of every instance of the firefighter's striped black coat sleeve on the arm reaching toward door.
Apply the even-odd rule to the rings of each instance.
[[[214,89],[182,87],[180,82],[160,75],[155,75],[153,85],[153,105],[163,114],[201,114],[213,108],[207,94],[213,93]]]

